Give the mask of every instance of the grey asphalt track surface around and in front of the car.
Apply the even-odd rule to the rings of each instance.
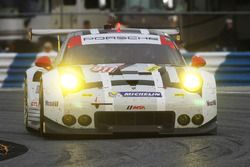
[[[0,91],[0,140],[29,151],[0,166],[250,166],[250,95],[218,95],[217,136],[52,140],[23,126],[23,94]]]

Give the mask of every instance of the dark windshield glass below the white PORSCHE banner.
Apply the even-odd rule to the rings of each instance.
[[[82,45],[66,51],[62,65],[153,63],[185,65],[176,49],[155,44]]]

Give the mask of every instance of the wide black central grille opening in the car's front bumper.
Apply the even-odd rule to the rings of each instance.
[[[174,128],[175,113],[173,111],[98,111],[94,119],[97,129],[116,126],[161,126],[163,129],[169,129]]]

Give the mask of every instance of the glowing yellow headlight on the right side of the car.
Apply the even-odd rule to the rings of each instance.
[[[202,79],[197,73],[186,73],[183,75],[182,85],[189,92],[197,92],[202,87]]]

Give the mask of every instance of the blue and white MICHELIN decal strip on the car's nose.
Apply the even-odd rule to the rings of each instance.
[[[162,97],[161,92],[109,92],[110,97]]]

